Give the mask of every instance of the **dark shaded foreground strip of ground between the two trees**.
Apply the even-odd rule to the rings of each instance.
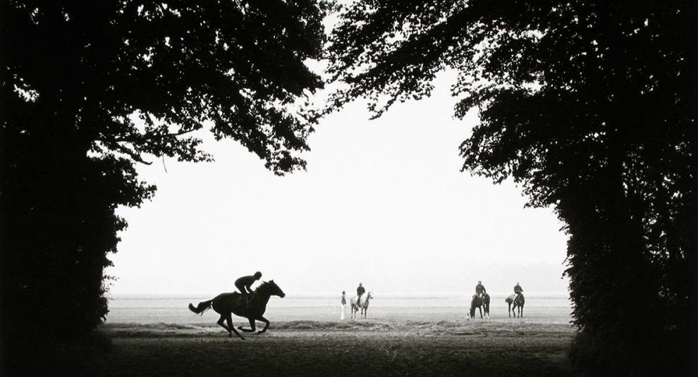
[[[272,321],[247,340],[214,323],[101,331],[107,376],[574,376],[573,328],[526,319]]]

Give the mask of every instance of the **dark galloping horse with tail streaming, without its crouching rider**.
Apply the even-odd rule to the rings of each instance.
[[[245,304],[240,299],[242,298],[242,295],[240,295],[238,292],[232,292],[221,293],[220,295],[214,297],[214,299],[200,302],[197,307],[189,304],[189,310],[195,312],[196,314],[203,314],[207,309],[213,308],[216,313],[221,314],[221,318],[217,323],[228,331],[228,335],[232,337],[233,333],[235,333],[235,335],[238,335],[240,339],[245,340],[243,335],[240,335],[238,330],[235,330],[235,326],[233,326],[232,314],[245,317],[250,320],[250,328],[243,328],[243,326],[238,327],[245,333],[255,332],[255,320],[266,323],[264,328],[257,332],[258,334],[264,333],[264,331],[267,331],[267,328],[269,328],[269,320],[264,318],[262,315],[264,314],[264,311],[267,311],[267,302],[269,302],[269,297],[284,297],[286,294],[283,293],[281,288],[278,288],[278,285],[274,283],[274,280],[269,280],[268,282],[262,282],[262,284],[260,284],[255,290],[254,295],[251,296],[250,304],[247,307],[245,307]],[[223,324],[224,321],[228,322],[228,326]]]

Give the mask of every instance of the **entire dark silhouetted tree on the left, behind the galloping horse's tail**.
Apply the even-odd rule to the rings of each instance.
[[[134,163],[211,159],[210,121],[278,175],[305,168],[317,115],[304,101],[323,85],[305,66],[325,39],[316,1],[3,0],[0,16],[8,342],[84,334],[106,315],[103,269],[126,226],[114,209],[156,188]]]

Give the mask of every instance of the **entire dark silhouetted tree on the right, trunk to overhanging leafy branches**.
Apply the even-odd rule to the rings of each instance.
[[[345,83],[329,109],[367,97],[377,117],[456,70],[455,116],[480,117],[463,169],[513,179],[567,224],[575,364],[685,368],[698,318],[696,14],[695,2],[357,1],[329,40],[329,73]]]

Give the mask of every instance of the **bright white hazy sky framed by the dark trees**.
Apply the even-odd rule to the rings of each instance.
[[[139,166],[158,187],[119,209],[111,294],[207,294],[262,271],[287,295],[567,292],[567,237],[551,209],[524,208],[513,183],[460,173],[477,120],[453,118],[448,87],[368,120],[356,103],[310,137],[307,171],[276,177],[231,140],[206,140],[214,163]]]

